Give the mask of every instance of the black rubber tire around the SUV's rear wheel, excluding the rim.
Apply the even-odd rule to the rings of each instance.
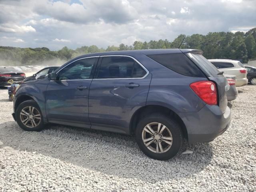
[[[165,125],[166,128],[168,128],[168,130],[170,130],[172,134],[172,145],[170,149],[167,150],[166,152],[162,152],[162,153],[152,152],[146,147],[146,145],[142,140],[142,132],[144,127],[146,127],[146,125],[152,122],[157,122]],[[140,147],[140,149],[142,150],[142,152],[144,152],[144,154],[146,154],[150,158],[153,158],[156,160],[168,160],[174,157],[179,152],[182,146],[182,141],[183,141],[180,125],[172,118],[159,113],[151,114],[150,116],[145,116],[142,119],[140,119],[136,127],[135,136],[136,136],[136,142]]]

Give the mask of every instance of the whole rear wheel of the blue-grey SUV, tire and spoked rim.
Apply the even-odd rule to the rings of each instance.
[[[162,125],[160,125],[158,131],[159,123]],[[150,137],[153,138],[152,131],[150,131],[151,133],[145,131],[145,129],[149,130],[146,128],[147,125],[150,125],[151,130],[158,132],[158,134],[154,135],[153,142],[150,139]],[[166,126],[166,128],[161,133],[163,125]],[[172,120],[172,118],[159,113],[151,114],[140,119],[136,127],[135,136],[136,142],[142,152],[156,160],[168,160],[174,157],[179,152],[183,141],[180,125]],[[144,144],[142,137],[144,137],[144,140],[148,139],[149,141]],[[168,138],[168,140],[161,138]],[[172,138],[172,140],[170,140],[170,138]],[[165,141],[169,143],[171,142],[171,144],[167,144]],[[150,142],[152,143],[146,146],[146,144]],[[160,149],[160,146],[162,147],[162,150]],[[158,151],[156,147],[158,147]]]

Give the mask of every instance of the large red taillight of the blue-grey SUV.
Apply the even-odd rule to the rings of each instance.
[[[209,105],[217,104],[217,88],[212,81],[198,81],[190,84],[190,88]]]

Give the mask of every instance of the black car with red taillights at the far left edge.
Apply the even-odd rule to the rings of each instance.
[[[12,83],[20,84],[24,78],[25,73],[16,70],[14,67],[0,67],[0,87],[11,85]]]

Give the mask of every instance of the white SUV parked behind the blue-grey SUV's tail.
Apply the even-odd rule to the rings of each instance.
[[[208,59],[218,70],[224,74],[236,76],[236,87],[248,84],[247,70],[240,61],[230,59]]]

